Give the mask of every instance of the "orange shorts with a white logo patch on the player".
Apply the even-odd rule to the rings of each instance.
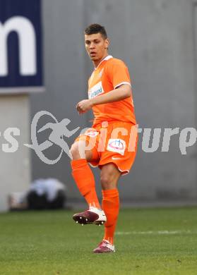
[[[75,142],[86,141],[85,150],[92,151],[92,166],[114,163],[122,174],[129,173],[136,157],[137,128],[127,122],[103,122],[79,135]]]

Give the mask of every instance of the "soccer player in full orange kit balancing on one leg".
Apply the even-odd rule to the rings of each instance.
[[[71,147],[72,175],[88,203],[88,210],[75,214],[73,219],[82,225],[105,224],[104,238],[93,250],[95,253],[115,252],[114,231],[119,214],[117,183],[121,175],[129,173],[136,157],[137,136],[131,135],[136,118],[129,71],[123,61],[108,54],[108,47],[105,27],[92,24],[85,29],[85,49],[95,70],[88,81],[88,99],[78,102],[76,109],[79,114],[92,109],[95,118],[92,128]],[[100,168],[102,206],[88,163]]]

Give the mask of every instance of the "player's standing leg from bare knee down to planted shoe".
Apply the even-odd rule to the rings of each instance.
[[[119,215],[119,191],[117,183],[121,172],[115,164],[105,164],[101,168],[100,181],[102,185],[102,209],[107,216],[105,223],[105,235],[97,248],[93,252],[115,252],[114,232]]]

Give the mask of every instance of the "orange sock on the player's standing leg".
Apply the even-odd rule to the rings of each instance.
[[[105,236],[103,239],[114,243],[114,232],[119,215],[119,191],[117,189],[102,190],[102,209],[107,216]]]

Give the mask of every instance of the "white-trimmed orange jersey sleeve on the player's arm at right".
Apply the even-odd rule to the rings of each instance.
[[[123,61],[113,61],[108,67],[108,77],[114,89],[123,84],[129,84],[131,86],[131,80],[129,77],[129,70]]]

